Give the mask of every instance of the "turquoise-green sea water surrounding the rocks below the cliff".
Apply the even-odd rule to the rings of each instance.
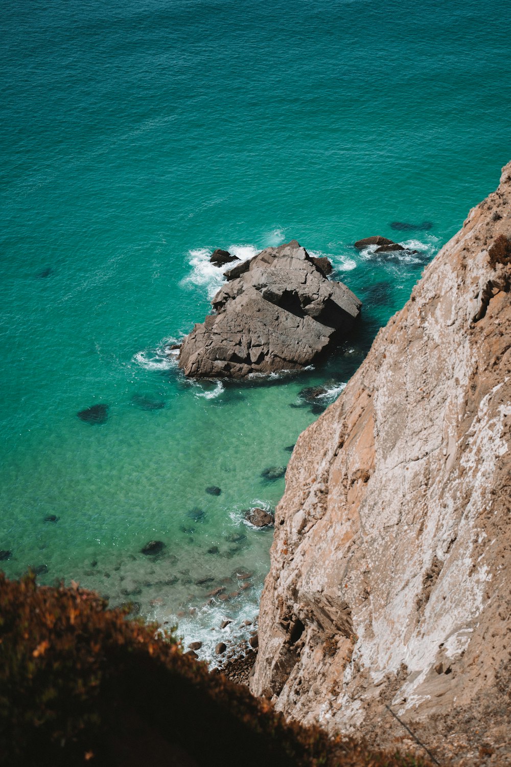
[[[509,160],[511,4],[2,9],[2,568],[138,601],[208,656],[257,614],[271,531],[242,510],[283,493],[261,472],[317,417],[300,389],[335,399]],[[419,253],[353,249],[372,234]],[[163,347],[208,311],[211,250],[293,238],[362,298],[359,330],[297,377],[185,381]],[[77,418],[94,403],[101,426]]]

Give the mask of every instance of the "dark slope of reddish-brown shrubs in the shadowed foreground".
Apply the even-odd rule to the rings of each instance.
[[[0,572],[0,764],[343,765],[416,758],[287,723],[91,591]]]

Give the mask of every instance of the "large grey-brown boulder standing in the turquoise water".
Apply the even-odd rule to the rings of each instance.
[[[179,367],[195,378],[242,378],[310,364],[349,331],[361,306],[325,271],[296,240],[235,265],[212,301],[216,314],[182,342]]]

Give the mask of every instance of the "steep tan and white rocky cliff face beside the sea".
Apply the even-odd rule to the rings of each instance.
[[[510,256],[511,163],[296,444],[251,680],[288,716],[509,709]]]

